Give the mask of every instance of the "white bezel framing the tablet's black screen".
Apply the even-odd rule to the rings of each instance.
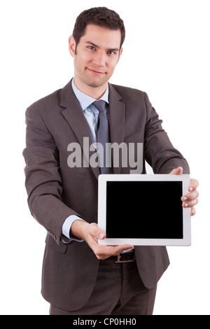
[[[172,174],[101,174],[98,190],[98,225],[106,232],[106,182],[107,181],[182,181],[183,195],[188,193],[190,175]],[[172,210],[173,211],[173,210]],[[132,244],[133,246],[190,246],[190,208],[183,208],[183,239],[114,239],[98,240],[102,245]]]

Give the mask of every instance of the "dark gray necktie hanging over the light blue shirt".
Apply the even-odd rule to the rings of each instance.
[[[108,153],[106,153],[106,143],[110,143],[109,123],[106,116],[106,102],[99,100],[93,102],[92,104],[99,110],[99,119],[97,125],[97,142],[102,144],[104,147],[104,167],[102,164],[101,174],[112,174],[112,168],[106,167],[106,158],[108,156]],[[111,159],[109,162],[111,162]]]

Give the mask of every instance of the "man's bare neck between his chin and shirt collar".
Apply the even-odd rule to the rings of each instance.
[[[94,99],[100,99],[104,92],[106,92],[106,88],[108,85],[108,82],[102,86],[99,87],[91,87],[90,85],[86,85],[86,83],[83,83],[83,81],[80,81],[80,79],[77,78],[77,76],[74,76],[74,83],[78,90],[81,92],[84,92],[84,94],[87,94],[88,96],[94,98]]]

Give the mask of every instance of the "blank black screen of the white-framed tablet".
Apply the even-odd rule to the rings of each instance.
[[[106,237],[183,239],[181,181],[108,181]]]

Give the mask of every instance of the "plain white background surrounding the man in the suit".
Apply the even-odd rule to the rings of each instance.
[[[200,181],[193,245],[168,248],[154,314],[210,314],[208,0],[1,1],[0,313],[48,314],[40,294],[45,229],[29,213],[24,186],[25,110],[73,76],[68,38],[78,14],[93,6],[116,10],[125,22],[111,82],[148,93]]]

